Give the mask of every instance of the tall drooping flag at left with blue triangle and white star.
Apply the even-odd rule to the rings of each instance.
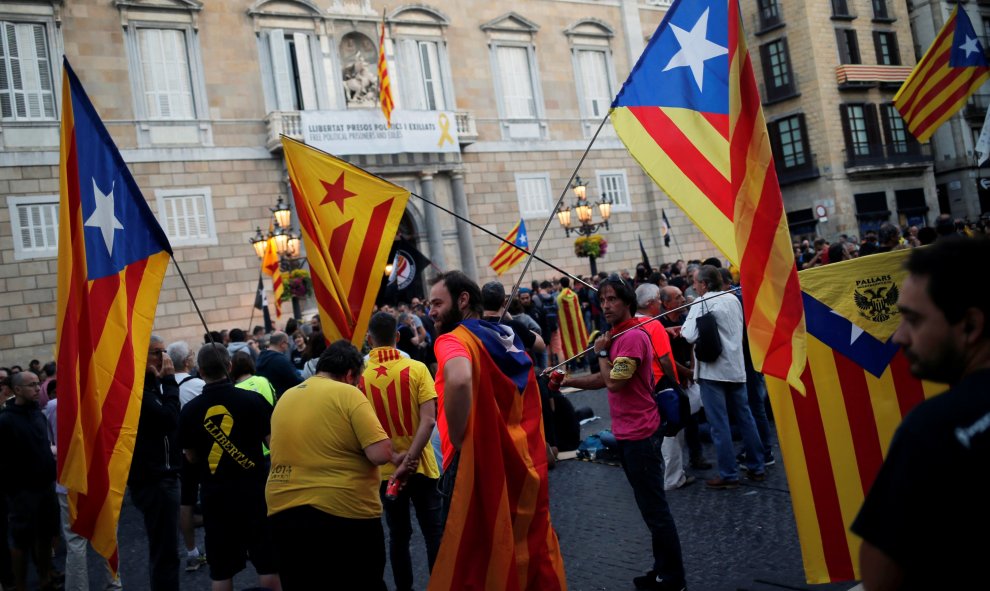
[[[168,238],[68,60],[59,149],[58,481],[72,530],[117,570]]]

